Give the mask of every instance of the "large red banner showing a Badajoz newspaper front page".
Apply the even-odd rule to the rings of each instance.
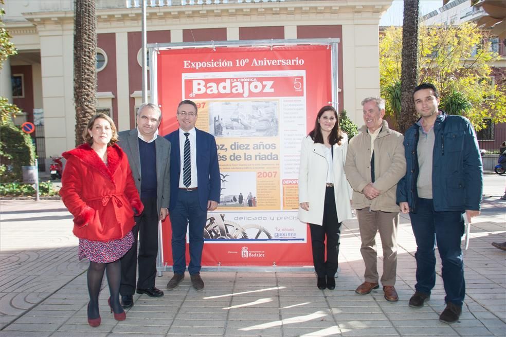
[[[190,99],[196,127],[218,146],[222,195],[208,214],[202,265],[312,265],[309,228],[297,218],[298,163],[302,137],[332,101],[330,49],[161,50],[154,70],[160,135],[178,128],[177,104]],[[172,265],[169,220],[162,242],[163,263]]]

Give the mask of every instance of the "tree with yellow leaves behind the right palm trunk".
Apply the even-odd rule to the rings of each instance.
[[[476,130],[483,118],[506,122],[506,79],[491,80],[491,63],[499,55],[490,49],[490,36],[473,23],[458,26],[420,26],[419,83],[431,82],[440,91],[440,107],[463,115]],[[400,117],[402,27],[387,28],[380,36],[380,87],[387,114]]]

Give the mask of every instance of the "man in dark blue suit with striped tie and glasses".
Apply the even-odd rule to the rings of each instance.
[[[220,201],[220,167],[216,141],[195,128],[197,106],[184,100],[177,106],[179,129],[165,136],[172,144],[170,165],[169,216],[172,226],[172,269],[167,289],[175,289],[185,278],[186,229],[189,229],[190,263],[188,272],[197,291],[204,289],[200,276],[204,226],[207,212]]]

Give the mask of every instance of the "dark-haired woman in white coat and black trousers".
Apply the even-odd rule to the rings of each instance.
[[[344,171],[347,148],[337,111],[322,107],[314,129],[302,139],[299,168],[299,220],[308,222],[311,230],[318,289],[336,286],[341,222],[352,217],[351,188]]]

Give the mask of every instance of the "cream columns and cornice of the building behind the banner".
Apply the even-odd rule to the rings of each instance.
[[[378,24],[391,0],[356,1],[285,1],[276,3],[220,4],[148,8],[149,30],[170,30],[171,42],[183,41],[183,29],[227,29],[227,40],[239,40],[240,27],[284,26],[285,39],[297,38],[300,25],[342,25],[342,62],[345,92],[344,108],[349,117],[362,124],[364,97],[380,92],[378,61]],[[73,102],[73,2],[56,1],[11,4],[14,13],[8,28],[20,51],[39,50],[40,69],[34,68],[35,107],[44,109],[46,154],[61,154],[75,146],[75,109]],[[37,7],[34,3],[40,3]],[[120,2],[112,1],[109,4]],[[139,101],[138,93],[129,92],[128,32],[139,31],[139,8],[100,9],[97,2],[97,33],[115,33],[118,125],[130,124],[129,99]],[[246,8],[249,6],[249,9]],[[51,11],[42,12],[41,8]],[[248,10],[246,10],[246,9]],[[26,10],[25,10],[26,9]],[[21,14],[29,12],[29,14]],[[15,20],[14,20],[15,21]],[[39,78],[40,77],[40,78]],[[98,106],[111,106],[113,97],[101,93]],[[40,104],[42,103],[42,106]],[[134,127],[133,125],[131,127]]]

